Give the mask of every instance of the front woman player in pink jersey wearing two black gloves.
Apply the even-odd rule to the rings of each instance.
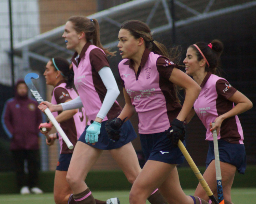
[[[177,147],[179,139],[185,143],[183,121],[193,107],[200,87],[169,60],[165,46],[153,39],[145,23],[124,22],[118,39],[120,55],[124,59],[118,69],[126,103],[115,120],[129,119],[138,113],[140,140],[147,159],[132,185],[130,204],[145,204],[156,188],[170,204],[207,203],[185,195],[176,168],[184,161]],[[183,106],[179,103],[175,85],[186,92]],[[114,132],[117,128],[111,124],[106,129]],[[168,131],[165,133],[165,130]]]

